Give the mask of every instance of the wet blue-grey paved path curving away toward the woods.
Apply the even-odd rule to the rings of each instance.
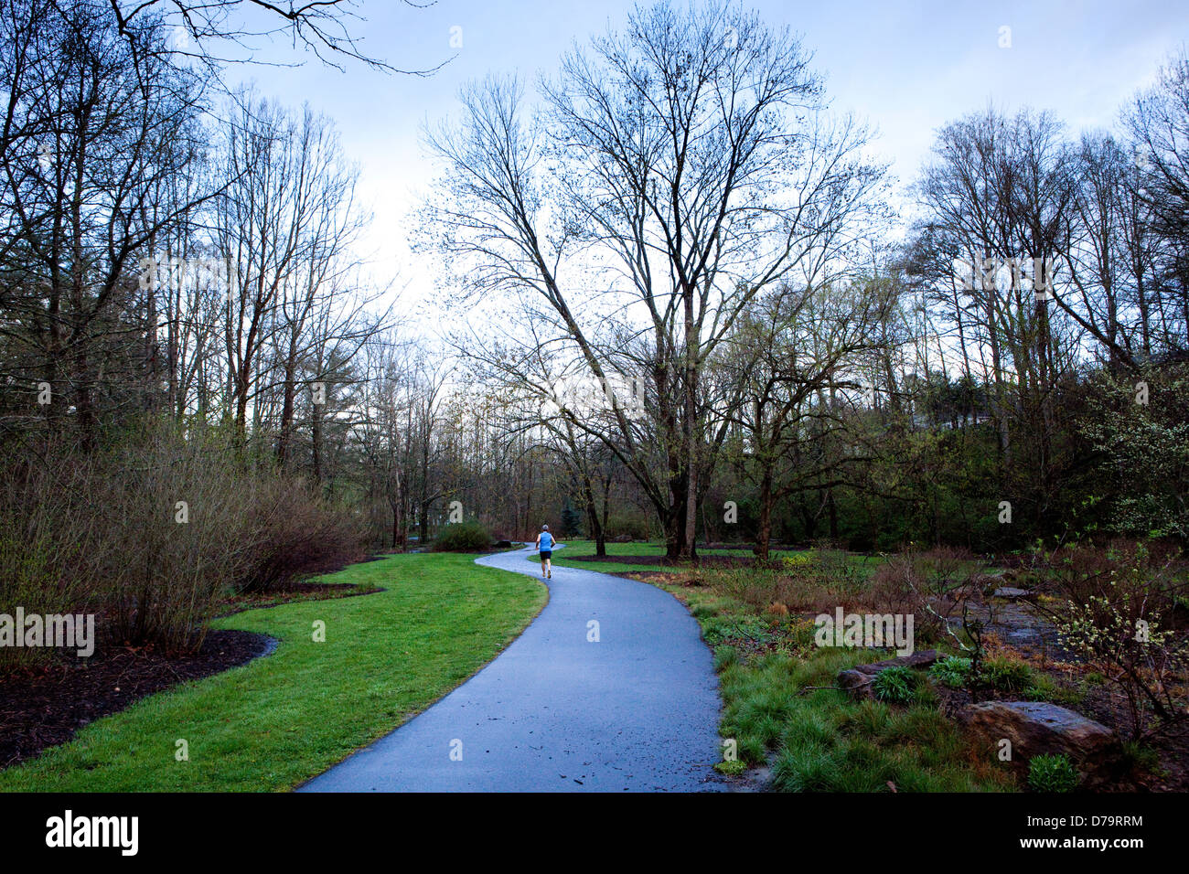
[[[529,553],[477,564],[540,578]],[[724,788],[712,771],[722,755],[718,680],[685,606],[594,571],[554,567],[546,584],[541,615],[486,667],[298,791]],[[587,640],[591,622],[598,642]]]

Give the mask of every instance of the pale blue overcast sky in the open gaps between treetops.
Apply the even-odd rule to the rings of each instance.
[[[1124,101],[1151,83],[1159,63],[1189,39],[1189,4],[1143,2],[789,2],[747,4],[770,25],[788,25],[814,52],[826,94],[880,132],[876,150],[910,182],[933,132],[984,107],[1051,109],[1074,131],[1115,122]],[[407,213],[430,178],[420,145],[424,119],[455,114],[459,86],[489,71],[531,81],[552,73],[574,40],[619,27],[619,0],[439,0],[413,8],[360,0],[364,54],[404,69],[449,61],[429,77],[385,75],[358,63],[344,73],[314,61],[297,69],[244,68],[262,94],[302,101],[331,115],[363,172],[375,212],[367,240],[373,275],[409,283],[403,307],[433,297],[432,264],[410,256]],[[1002,29],[1009,29],[1004,31]],[[461,48],[452,48],[452,38]],[[1008,43],[1009,48],[1001,48]],[[294,58],[265,46],[260,58]],[[402,308],[403,308],[402,307]]]

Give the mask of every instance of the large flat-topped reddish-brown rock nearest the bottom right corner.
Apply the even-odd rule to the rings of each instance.
[[[1106,725],[1048,702],[970,704],[958,718],[993,744],[1012,742],[1012,762],[1025,767],[1034,755],[1064,753],[1078,769],[1105,776],[1118,760],[1119,738]]]

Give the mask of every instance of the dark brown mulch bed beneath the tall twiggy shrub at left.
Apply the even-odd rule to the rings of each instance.
[[[193,655],[108,647],[90,659],[62,658],[0,677],[0,768],[65,743],[88,723],[150,694],[251,661],[272,643],[252,631],[210,631]]]

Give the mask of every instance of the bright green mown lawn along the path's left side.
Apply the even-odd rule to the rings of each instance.
[[[461,684],[548,597],[529,577],[448,553],[392,555],[322,580],[386,591],[219,620],[277,637],[277,650],[94,722],[0,771],[0,791],[290,790]],[[316,621],[325,642],[314,641]],[[178,740],[188,761],[175,757]]]

